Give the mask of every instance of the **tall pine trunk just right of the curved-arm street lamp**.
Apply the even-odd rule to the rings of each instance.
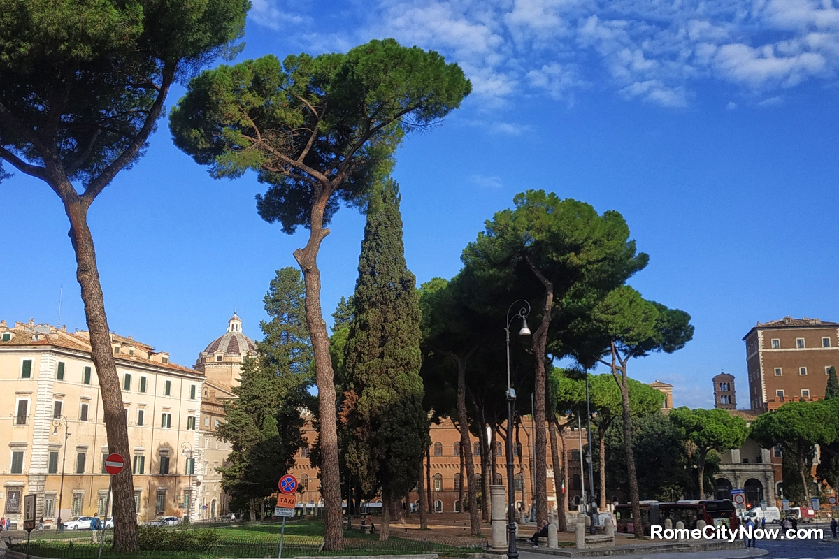
[[[537,274],[539,279],[541,274]],[[545,375],[545,353],[548,344],[548,327],[550,325],[550,313],[554,306],[553,285],[547,280],[545,283],[545,303],[542,308],[544,313],[542,323],[533,337],[533,354],[536,360],[536,375],[534,379],[534,496],[536,499],[536,525],[541,526],[548,521],[548,463],[547,446],[548,437],[545,428],[545,386],[547,377]]]

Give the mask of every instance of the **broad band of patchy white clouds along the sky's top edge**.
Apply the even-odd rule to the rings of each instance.
[[[679,107],[702,81],[761,98],[836,81],[836,0],[370,0],[365,22],[300,34],[313,47],[394,37],[435,49],[492,111],[532,93],[571,100],[587,87]],[[307,3],[253,0],[251,19],[311,31]],[[362,9],[365,10],[362,13]]]

